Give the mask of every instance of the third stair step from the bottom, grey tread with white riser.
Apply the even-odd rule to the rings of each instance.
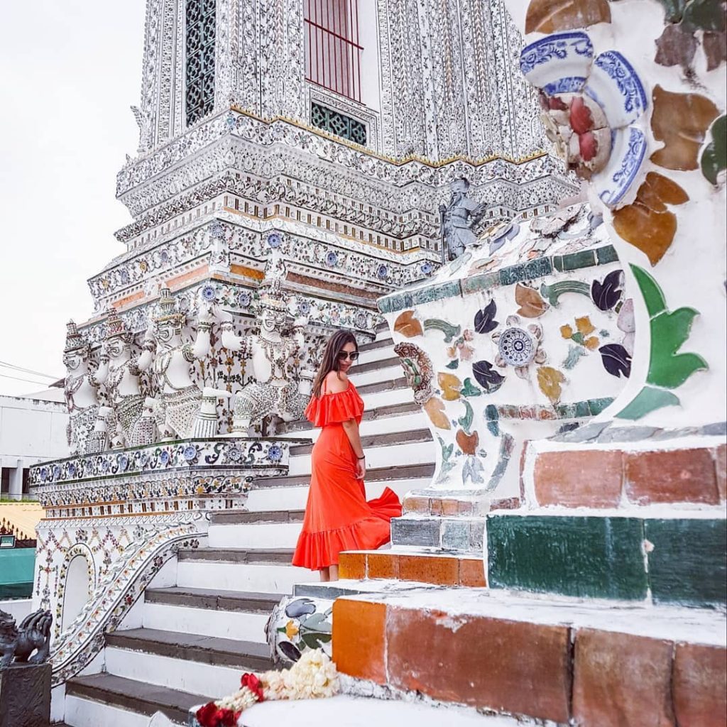
[[[149,588],[142,627],[265,643],[265,623],[282,598],[204,588]]]

